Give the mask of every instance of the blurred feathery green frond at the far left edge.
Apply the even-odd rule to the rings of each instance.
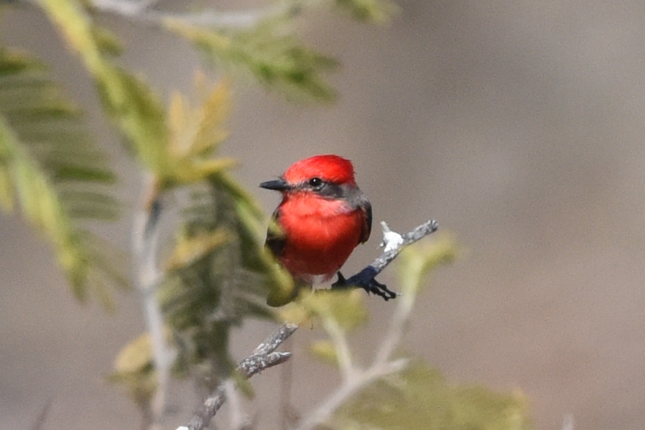
[[[76,297],[96,290],[106,305],[106,282],[127,285],[109,246],[85,219],[110,220],[118,204],[105,156],[88,136],[80,111],[65,99],[43,66],[0,49],[0,206],[19,200],[23,214],[54,244]]]

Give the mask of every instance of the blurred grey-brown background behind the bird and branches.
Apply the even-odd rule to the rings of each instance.
[[[244,7],[252,2],[222,3]],[[419,299],[406,335],[414,354],[449,380],[521,389],[536,428],[645,426],[645,3],[637,0],[402,0],[382,28],[322,15],[303,21],[315,47],[338,56],[333,107],[303,107],[237,85],[232,138],[222,153],[267,213],[278,197],[257,188],[316,153],[353,160],[375,221],[404,232],[439,221],[463,246]],[[39,11],[3,13],[3,42],[53,67],[89,109],[106,144],[94,87]],[[191,87],[199,59],[151,27],[105,21],[124,37],[124,63],[164,97]],[[122,157],[118,150],[116,157]],[[138,198],[135,166],[119,162],[126,204]],[[127,248],[131,216],[103,227]],[[346,272],[378,254],[380,232]],[[139,414],[105,383],[120,347],[144,330],[137,295],[118,310],[79,305],[45,241],[17,217],[0,217],[0,428],[135,429]],[[382,281],[395,287],[389,270]],[[364,356],[389,303],[369,299],[371,323],[353,339]],[[245,325],[238,356],[271,325]],[[338,382],[296,338],[294,407]],[[256,376],[248,413],[276,426],[278,369]],[[173,392],[177,423],[193,409]],[[187,397],[184,394],[187,394]],[[275,424],[272,424],[275,423]],[[168,427],[171,428],[171,427]]]

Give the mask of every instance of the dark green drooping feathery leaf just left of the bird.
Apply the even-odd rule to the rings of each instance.
[[[273,318],[265,305],[272,279],[261,257],[263,237],[241,221],[239,208],[248,202],[230,192],[236,190],[229,188],[230,182],[220,173],[193,186],[178,246],[216,232],[223,232],[226,241],[202,247],[197,258],[173,266],[158,295],[166,321],[182,339],[179,363],[184,370],[192,369],[188,373],[202,375],[207,389],[233,368],[228,350],[233,327],[249,317]]]

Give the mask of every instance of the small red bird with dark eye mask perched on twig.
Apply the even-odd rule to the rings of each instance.
[[[270,228],[266,245],[300,283],[329,281],[354,248],[369,239],[372,208],[345,158],[306,158],[260,186],[282,193],[273,213],[281,232]]]

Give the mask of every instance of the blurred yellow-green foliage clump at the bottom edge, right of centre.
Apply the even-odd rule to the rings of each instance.
[[[528,430],[527,401],[479,385],[452,385],[417,362],[369,385],[342,406],[331,427],[373,430]]]

